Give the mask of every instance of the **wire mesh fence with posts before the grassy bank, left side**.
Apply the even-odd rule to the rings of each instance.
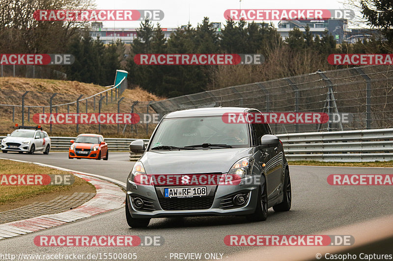
[[[15,123],[19,125],[37,125],[37,114],[92,114],[92,113],[120,113],[120,114],[150,114],[149,102],[135,101],[120,97],[127,88],[124,78],[118,86],[107,86],[98,94],[91,96],[57,94],[44,92],[18,92],[0,90],[0,96],[7,97],[8,104],[0,104],[1,133],[6,134],[14,130]],[[37,97],[40,99],[37,99]],[[42,101],[46,102],[42,102]],[[143,117],[143,116],[142,116]],[[147,119],[148,120],[148,119]],[[48,121],[49,122],[49,121]],[[40,124],[52,136],[69,136],[79,133],[101,133],[104,135],[124,137],[147,137],[153,131],[152,121],[135,124]]]

